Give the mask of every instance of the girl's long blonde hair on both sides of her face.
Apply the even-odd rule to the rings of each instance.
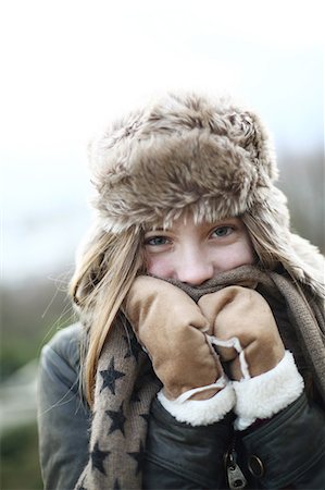
[[[249,233],[257,265],[264,270],[275,270],[282,265],[298,285],[300,268],[285,249],[275,247],[273,230],[262,226],[260,220],[249,212],[238,218]],[[138,226],[130,226],[118,234],[98,229],[82,254],[71,281],[70,294],[86,327],[86,341],[80,352],[80,384],[90,406],[103,344],[118,320],[122,303],[133,281],[139,271],[145,273],[143,233],[145,229]],[[295,269],[297,275],[292,273]],[[321,294],[321,291],[320,286],[316,293]]]

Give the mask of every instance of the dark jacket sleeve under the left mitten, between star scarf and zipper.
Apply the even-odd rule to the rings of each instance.
[[[226,488],[224,453],[230,414],[209,426],[176,420],[155,399],[151,405],[143,470],[145,489]]]

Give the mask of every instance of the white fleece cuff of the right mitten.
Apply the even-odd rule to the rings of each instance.
[[[272,417],[295,402],[303,391],[303,379],[289,351],[270,371],[251,379],[233,381],[232,384],[237,399],[236,430],[246,429],[257,418]]]

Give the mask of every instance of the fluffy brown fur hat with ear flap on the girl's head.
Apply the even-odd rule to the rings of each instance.
[[[92,204],[107,232],[168,225],[184,211],[197,222],[250,216],[293,278],[323,279],[317,249],[290,233],[267,131],[232,98],[174,94],[152,101],[96,138],[89,160]]]

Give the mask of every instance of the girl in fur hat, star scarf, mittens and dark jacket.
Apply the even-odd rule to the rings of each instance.
[[[324,262],[260,119],[170,95],[89,158],[80,323],[40,365],[45,487],[323,489]]]

